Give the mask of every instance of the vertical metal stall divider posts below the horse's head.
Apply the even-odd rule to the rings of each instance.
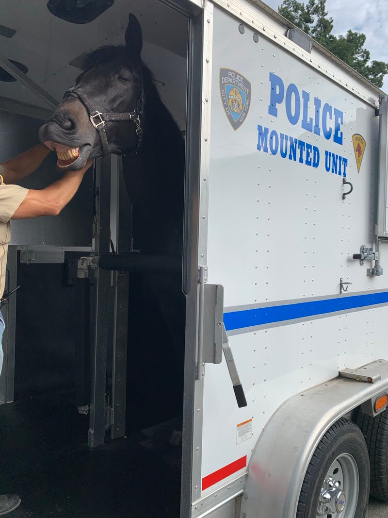
[[[80,370],[80,375],[86,377],[85,383],[88,351],[84,348],[91,347],[91,392],[90,400],[83,401],[79,412],[90,411],[88,445],[91,448],[103,444],[108,429],[112,439],[125,435],[129,275],[98,267],[99,257],[110,255],[110,243],[114,254],[118,251],[119,179],[117,156],[97,161],[93,253],[79,259],[77,270],[79,285],[91,281],[90,291],[85,286],[79,290],[85,297],[91,297],[91,313],[80,312],[85,321],[79,325],[81,330],[86,329],[90,317],[89,340],[79,346],[83,348],[80,357],[86,358],[84,372]],[[88,301],[79,302],[82,305]]]

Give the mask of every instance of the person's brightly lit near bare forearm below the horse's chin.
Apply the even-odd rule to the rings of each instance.
[[[79,171],[68,171],[64,176],[45,189],[30,189],[13,213],[12,220],[37,218],[38,216],[56,216],[76,194],[85,171],[93,164],[89,159]]]

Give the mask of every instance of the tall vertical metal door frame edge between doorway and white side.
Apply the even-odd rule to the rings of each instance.
[[[186,170],[184,214],[183,291],[186,295],[186,337],[184,371],[184,406],[182,440],[181,516],[190,516],[191,502],[197,499],[196,486],[201,481],[203,384],[196,387],[195,363],[198,341],[198,205],[200,161],[200,129],[202,90],[198,80],[202,74],[203,13],[188,21]]]

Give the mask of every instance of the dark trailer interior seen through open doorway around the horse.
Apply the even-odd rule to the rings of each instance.
[[[142,59],[185,132],[189,22],[183,13],[157,0],[3,0],[0,13],[0,162],[38,143],[40,125],[74,85],[85,53],[124,44],[129,13],[142,27]],[[59,178],[55,161],[50,153],[23,185],[41,189]],[[96,246],[105,253],[132,250],[121,169],[116,156],[96,161],[57,217],[11,224],[7,289],[20,289],[3,308],[0,494],[21,497],[14,518],[180,515],[183,365],[169,330],[142,272],[91,275],[81,289],[77,280],[80,257]],[[96,213],[97,223],[105,221],[98,238]],[[101,282],[108,302],[95,309]],[[108,324],[80,358],[80,314],[98,328],[102,310]],[[126,368],[117,377],[119,333]],[[106,364],[96,365],[93,348],[101,347]],[[105,408],[91,411],[101,383]],[[120,409],[114,417],[113,402]]]

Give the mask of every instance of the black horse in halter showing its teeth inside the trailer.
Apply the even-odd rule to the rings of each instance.
[[[78,170],[89,157],[121,154],[133,207],[134,248],[140,254],[182,258],[184,139],[141,60],[141,27],[133,15],[125,42],[86,57],[76,87],[65,93],[39,138],[56,151],[62,170]],[[147,274],[142,281],[145,298],[156,301],[168,342],[178,351],[180,378],[185,326],[181,278],[181,272]],[[146,305],[143,311],[148,311]],[[148,314],[146,333],[153,321]]]

